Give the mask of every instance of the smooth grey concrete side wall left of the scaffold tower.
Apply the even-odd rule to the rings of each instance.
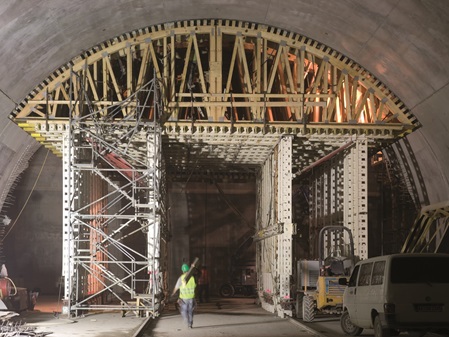
[[[42,172],[41,172],[42,170]],[[4,254],[8,275],[18,287],[64,294],[62,273],[62,162],[41,147],[20,177]]]

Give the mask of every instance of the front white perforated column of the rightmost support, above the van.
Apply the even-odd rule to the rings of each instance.
[[[344,160],[344,223],[354,237],[354,254],[368,258],[368,141],[357,139]]]

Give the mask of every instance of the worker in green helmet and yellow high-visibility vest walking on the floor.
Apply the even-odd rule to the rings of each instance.
[[[179,310],[181,312],[182,318],[187,323],[189,329],[193,327],[193,311],[195,310],[196,301],[195,301],[195,288],[196,282],[195,278],[191,276],[188,280],[186,280],[186,276],[190,267],[187,264],[183,264],[181,266],[182,275],[178,278],[176,282],[175,288],[173,289],[172,296],[179,289]]]

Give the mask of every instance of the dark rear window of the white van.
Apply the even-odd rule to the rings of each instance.
[[[449,257],[395,257],[391,260],[391,282],[449,283]]]

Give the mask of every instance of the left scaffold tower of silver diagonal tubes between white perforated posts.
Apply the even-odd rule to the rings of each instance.
[[[72,78],[72,88],[83,90],[81,79]],[[143,96],[157,96],[156,84],[143,86]],[[161,128],[142,119],[150,100],[142,104],[136,97],[104,109],[87,104],[88,111],[70,118],[63,137],[63,313],[68,315],[101,309],[157,316],[162,303]],[[127,118],[115,119],[124,110]]]

